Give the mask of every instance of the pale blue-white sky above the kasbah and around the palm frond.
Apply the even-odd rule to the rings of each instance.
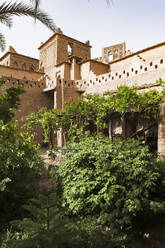
[[[24,2],[29,2],[28,0]],[[125,41],[132,52],[165,41],[165,0],[41,0],[41,8],[54,19],[64,34],[82,42],[90,40],[92,57],[101,48]],[[38,47],[52,32],[28,17],[14,18],[12,29],[1,24],[7,48],[39,57]],[[0,54],[2,55],[2,53]]]

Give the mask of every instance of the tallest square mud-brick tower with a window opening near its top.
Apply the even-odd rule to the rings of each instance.
[[[71,67],[69,65],[63,66],[62,64],[71,63],[73,56],[77,56],[78,59],[82,60],[90,59],[90,49],[89,43],[82,43],[58,32],[44,44],[41,44],[39,47],[39,67],[40,70],[45,72],[47,87],[52,84],[56,85],[56,76],[65,79],[80,79],[77,62],[73,63]]]

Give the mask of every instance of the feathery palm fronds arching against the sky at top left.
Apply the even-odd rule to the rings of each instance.
[[[13,16],[31,16],[44,25],[46,25],[53,32],[56,31],[56,25],[53,20],[42,10],[38,8],[39,0],[35,0],[36,4],[32,5],[25,4],[23,2],[7,3],[6,1],[0,4],[0,22],[11,28],[13,24]],[[5,50],[5,37],[0,32],[0,49]]]

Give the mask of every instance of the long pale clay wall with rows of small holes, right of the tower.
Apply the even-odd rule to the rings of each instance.
[[[161,56],[158,56],[159,53]],[[160,78],[165,80],[165,47],[164,54],[162,47],[158,48],[158,53],[153,56],[155,58],[152,54],[153,51],[147,51],[146,60],[140,60],[138,63],[135,63],[138,59],[136,55],[114,62],[111,64],[111,72],[106,74],[98,76],[90,74],[86,79],[86,92],[104,94],[107,91],[115,91],[119,85],[143,87],[155,84]]]

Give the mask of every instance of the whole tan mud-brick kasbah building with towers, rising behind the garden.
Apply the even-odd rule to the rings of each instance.
[[[115,92],[119,85],[136,86],[140,91],[161,90],[158,79],[165,81],[165,42],[131,53],[121,43],[102,49],[102,57],[91,59],[90,42],[85,43],[57,29],[39,47],[39,60],[19,54],[13,47],[0,58],[0,75],[5,87],[22,85],[26,91],[15,118],[46,107],[63,109],[65,102],[85,94]],[[112,133],[120,133],[119,120],[112,123]],[[138,128],[138,123],[137,123]],[[157,151],[165,159],[165,103],[160,106],[156,130]],[[40,135],[38,140],[41,141]],[[57,134],[57,144],[63,143]]]

